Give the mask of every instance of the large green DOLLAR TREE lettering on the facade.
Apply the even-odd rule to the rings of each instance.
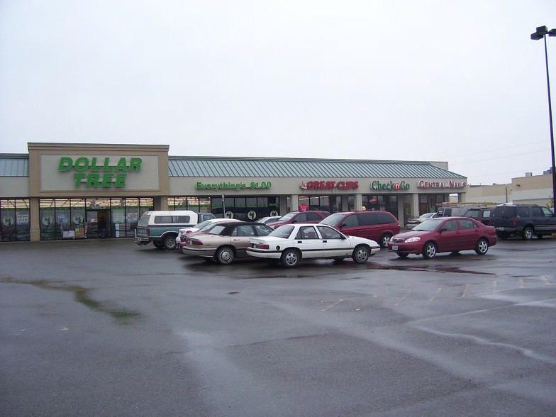
[[[109,157],[60,157],[58,171],[76,171],[73,174],[75,188],[85,185],[86,188],[123,188],[126,187],[128,172],[141,170],[141,158],[119,158],[116,165],[111,165]]]

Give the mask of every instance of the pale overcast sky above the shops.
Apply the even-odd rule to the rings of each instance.
[[[552,165],[537,26],[555,0],[0,0],[0,152],[164,144],[511,182]]]

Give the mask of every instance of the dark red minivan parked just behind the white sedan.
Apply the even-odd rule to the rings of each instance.
[[[342,211],[330,214],[320,224],[327,224],[349,236],[375,240],[387,248],[390,238],[399,233],[399,221],[389,211]]]

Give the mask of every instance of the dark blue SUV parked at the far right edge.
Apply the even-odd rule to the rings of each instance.
[[[556,216],[550,208],[536,204],[503,204],[496,206],[490,218],[491,226],[496,228],[499,238],[506,239],[512,235],[525,240],[537,235],[556,233]]]

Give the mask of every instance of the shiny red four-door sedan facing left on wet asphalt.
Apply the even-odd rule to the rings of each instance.
[[[413,253],[421,254],[425,259],[440,252],[457,253],[460,250],[474,250],[478,255],[484,255],[490,246],[496,245],[496,240],[494,227],[473,218],[439,217],[395,235],[388,244],[388,250],[396,252],[399,257]]]

